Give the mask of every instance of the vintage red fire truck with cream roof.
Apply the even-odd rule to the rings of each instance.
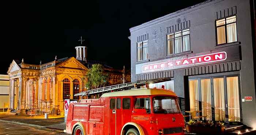
[[[183,135],[185,130],[176,94],[148,88],[71,103],[66,124],[72,135]]]

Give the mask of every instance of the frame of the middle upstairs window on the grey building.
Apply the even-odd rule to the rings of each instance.
[[[182,35],[183,34],[183,31],[189,31],[189,34],[186,34],[186,35]],[[177,34],[178,32],[181,33],[181,36],[178,36],[178,37],[175,37],[175,33]],[[168,36],[169,35],[173,35],[173,53],[172,54],[168,54],[168,41],[171,40],[171,39],[168,39]],[[189,50],[187,51],[184,51],[183,50],[183,36],[187,36],[189,35]],[[182,49],[182,52],[180,53],[175,53],[175,38],[180,38],[181,37],[181,49]],[[182,53],[187,53],[191,51],[191,40],[190,40],[190,28],[185,28],[185,29],[182,29],[182,30],[179,30],[179,31],[175,31],[175,32],[172,32],[172,33],[167,33],[166,34],[166,54],[167,56],[172,56],[172,55],[176,55],[176,54],[182,54]]]

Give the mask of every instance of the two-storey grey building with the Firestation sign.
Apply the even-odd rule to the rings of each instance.
[[[182,113],[256,127],[254,2],[208,0],[130,28],[132,82],[166,80],[150,85],[174,90]]]

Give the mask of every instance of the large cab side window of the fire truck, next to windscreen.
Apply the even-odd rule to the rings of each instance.
[[[138,98],[136,99],[135,109],[146,109],[147,113],[150,113],[150,99],[149,98]]]

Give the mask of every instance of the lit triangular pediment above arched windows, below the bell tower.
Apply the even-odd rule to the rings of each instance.
[[[73,68],[73,69],[82,69],[88,70],[86,66],[80,63],[76,58],[71,57],[61,63],[58,63],[56,67],[63,67],[63,68]]]

